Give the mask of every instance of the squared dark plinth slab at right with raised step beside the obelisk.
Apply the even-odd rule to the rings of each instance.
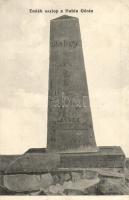
[[[61,167],[124,168],[125,155],[120,147],[100,147],[98,152],[61,153]]]

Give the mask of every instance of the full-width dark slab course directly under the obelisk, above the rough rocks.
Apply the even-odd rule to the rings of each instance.
[[[118,168],[125,164],[120,147],[100,147],[98,152],[42,153],[41,149],[29,150],[22,156],[1,156],[1,174],[42,173],[58,168]]]

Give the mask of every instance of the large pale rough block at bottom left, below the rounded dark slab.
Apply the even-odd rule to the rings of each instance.
[[[40,190],[40,175],[5,175],[4,185],[10,191],[38,191]]]

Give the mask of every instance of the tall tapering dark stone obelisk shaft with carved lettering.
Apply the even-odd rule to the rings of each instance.
[[[47,149],[97,150],[79,20],[66,15],[50,23]]]

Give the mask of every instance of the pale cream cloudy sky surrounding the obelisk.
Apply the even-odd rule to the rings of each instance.
[[[80,22],[96,142],[129,156],[126,0],[0,1],[0,154],[46,146],[49,27],[61,14],[29,9],[93,9],[69,15]]]

